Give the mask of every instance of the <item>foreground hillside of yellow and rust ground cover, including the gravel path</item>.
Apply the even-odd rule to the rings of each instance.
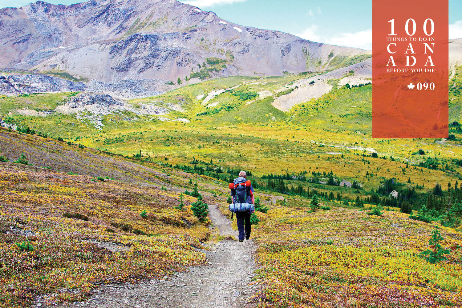
[[[236,222],[227,219],[225,181],[0,131],[2,154],[15,148],[6,156],[25,152],[30,163],[0,162],[0,307],[436,308],[461,301],[462,237],[454,229],[441,227],[448,260],[431,264],[419,256],[430,223],[394,211],[370,216],[324,197],[311,212],[310,197],[261,187],[255,194],[267,211],[256,214],[255,240],[240,247],[230,237]],[[57,172],[77,161],[87,162],[80,175]],[[98,161],[106,174],[126,176],[92,177]],[[139,168],[163,176],[148,183]],[[191,210],[196,198],[183,195],[177,208],[195,181],[209,204],[203,221]],[[235,268],[239,262],[245,271]]]

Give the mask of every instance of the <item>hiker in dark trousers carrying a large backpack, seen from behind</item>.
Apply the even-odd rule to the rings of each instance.
[[[234,189],[231,188],[231,198],[233,203],[252,203],[255,205],[255,198],[254,198],[254,187],[250,185],[249,182],[249,187],[245,185],[247,179],[247,173],[245,171],[239,172],[239,177],[237,179],[234,179],[233,183],[234,187],[237,187],[238,184],[243,184],[245,187],[244,189]],[[250,226],[250,214],[253,213],[253,211],[245,211],[245,212],[236,212],[236,218],[237,218],[237,229],[239,230],[239,242],[244,242],[244,237],[245,240],[249,240],[250,237],[250,231],[252,227]],[[245,222],[245,226],[244,226]]]

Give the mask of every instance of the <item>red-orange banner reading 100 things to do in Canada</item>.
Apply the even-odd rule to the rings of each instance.
[[[448,13],[448,0],[373,0],[372,137],[448,137]]]

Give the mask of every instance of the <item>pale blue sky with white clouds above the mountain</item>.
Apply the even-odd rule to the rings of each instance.
[[[73,4],[78,0],[49,0]],[[372,48],[372,0],[182,0],[243,26],[278,30],[333,45]],[[0,8],[30,0],[0,0]],[[462,1],[449,0],[449,38],[462,38]]]

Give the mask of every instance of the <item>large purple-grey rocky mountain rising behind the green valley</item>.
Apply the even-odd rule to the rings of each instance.
[[[160,94],[178,81],[323,72],[371,57],[358,48],[233,24],[176,0],[4,8],[0,38],[1,68],[85,82],[87,91],[117,97]]]

